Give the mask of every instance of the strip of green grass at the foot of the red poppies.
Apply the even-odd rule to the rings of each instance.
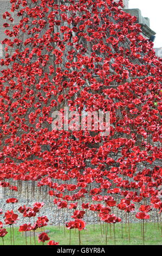
[[[107,245],[114,245],[114,233],[113,233],[113,224],[111,224],[112,231],[112,239],[110,237],[110,229],[108,225],[108,238]],[[59,242],[60,245],[69,245],[69,230],[66,228],[66,236],[64,236],[63,227],[56,226],[48,226],[45,227],[45,230],[50,230],[48,236],[50,240],[55,240]],[[103,224],[102,224],[103,229]],[[4,245],[10,245],[10,228],[7,229],[8,234],[4,237]],[[40,230],[36,230],[40,231]],[[25,245],[25,233],[18,231],[18,228],[14,228],[14,237],[15,237],[15,245]],[[102,230],[103,233],[103,230]],[[142,237],[141,237],[141,226],[140,223],[132,223],[130,230],[131,241],[128,239],[128,225],[127,230],[125,228],[125,224],[123,224],[123,238],[121,238],[121,223],[115,224],[115,240],[116,245],[142,245]],[[31,244],[34,245],[34,237],[32,232]],[[47,242],[44,243],[46,245]],[[78,230],[71,230],[71,245],[78,245]],[[2,238],[0,237],[0,245],[3,245]],[[30,245],[30,237],[27,237],[27,245]],[[36,237],[36,245],[42,245],[38,243]],[[87,225],[86,230],[81,231],[81,245],[106,245],[105,243],[105,231],[101,236],[101,228],[99,224],[95,225],[95,230],[93,225]],[[145,233],[145,245],[162,245],[162,237],[161,237],[161,228],[160,224],[157,223],[147,223],[146,233]]]

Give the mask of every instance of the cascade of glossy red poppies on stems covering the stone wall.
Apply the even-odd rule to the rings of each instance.
[[[76,209],[66,227],[79,232],[85,212],[106,224],[121,221],[114,208],[128,223],[135,205],[137,218],[152,208],[160,215],[162,69],[136,18],[119,8],[122,1],[10,2],[0,62],[0,186],[11,191],[7,203],[17,202],[25,186],[27,202],[37,191],[40,200],[53,198],[58,214]],[[52,114],[64,107],[80,115],[109,111],[109,135],[53,130]],[[42,206],[19,211],[30,218]],[[42,232],[39,241],[46,240]]]

